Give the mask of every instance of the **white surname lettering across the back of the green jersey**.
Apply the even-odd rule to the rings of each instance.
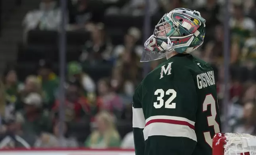
[[[202,89],[211,85],[215,85],[213,70],[198,74],[196,76],[198,89]]]

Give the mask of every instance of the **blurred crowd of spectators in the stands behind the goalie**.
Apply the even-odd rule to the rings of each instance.
[[[224,97],[223,4],[223,0],[149,0],[152,32],[162,15],[174,8],[196,9],[207,20],[205,42],[193,55],[215,70],[220,110]],[[68,0],[67,42],[81,45],[67,47],[64,124],[59,121],[56,45],[47,43],[52,43],[50,36],[35,43],[60,29],[60,4],[41,0],[27,12],[21,54],[2,74],[0,88],[5,90],[0,91],[5,96],[0,98],[5,101],[0,110],[5,115],[1,116],[0,148],[134,148],[131,105],[145,69],[140,63],[145,6],[145,0]],[[256,0],[232,0],[229,9],[230,98],[225,122],[229,129],[225,132],[256,135]],[[33,39],[32,34],[36,34]],[[163,61],[151,62],[150,70]],[[21,70],[21,64],[28,62]]]

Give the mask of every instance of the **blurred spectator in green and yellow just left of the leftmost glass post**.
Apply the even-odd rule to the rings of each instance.
[[[52,71],[50,60],[40,60],[38,79],[41,81],[42,96],[45,108],[52,108],[55,100],[56,89],[59,84],[58,77]]]

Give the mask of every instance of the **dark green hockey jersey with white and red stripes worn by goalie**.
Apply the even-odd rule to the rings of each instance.
[[[171,57],[134,93],[136,155],[211,155],[218,109],[211,66],[190,54]]]

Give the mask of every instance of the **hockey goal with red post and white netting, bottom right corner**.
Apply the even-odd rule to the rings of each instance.
[[[256,136],[240,133],[215,134],[213,155],[256,155]]]

